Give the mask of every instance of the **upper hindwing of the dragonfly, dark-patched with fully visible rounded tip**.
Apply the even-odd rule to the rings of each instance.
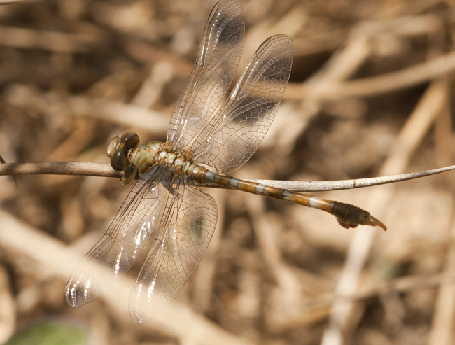
[[[292,61],[289,36],[272,36],[260,45],[228,100],[195,138],[195,161],[229,174],[250,159],[274,120]]]

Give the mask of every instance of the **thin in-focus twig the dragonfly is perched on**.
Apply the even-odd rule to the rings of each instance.
[[[414,180],[425,176],[441,174],[446,171],[454,170],[455,165],[439,169],[419,171],[409,174],[399,174],[392,176],[381,176],[372,178],[358,178],[354,180],[342,181],[278,181],[278,180],[256,180],[248,179],[270,185],[272,187],[283,188],[292,192],[322,192],[324,190],[342,190],[370,187],[372,185],[384,185],[401,181]],[[81,175],[81,176],[105,176],[121,178],[123,173],[112,169],[107,163],[89,162],[27,162],[27,163],[8,163],[0,164],[0,176],[2,175],[25,175],[25,174],[50,174],[50,175]],[[207,183],[205,186],[219,188]]]

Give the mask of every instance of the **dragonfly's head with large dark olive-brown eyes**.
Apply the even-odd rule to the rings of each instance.
[[[116,136],[107,148],[107,156],[111,158],[111,166],[116,171],[124,171],[131,165],[128,160],[130,150],[139,145],[139,136],[134,132],[125,132],[120,138]]]

